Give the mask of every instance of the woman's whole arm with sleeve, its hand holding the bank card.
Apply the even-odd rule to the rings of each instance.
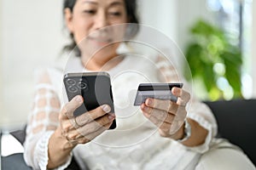
[[[168,59],[159,56],[156,65],[159,68],[161,81],[184,82],[185,88],[188,88],[188,84],[183,77],[177,75],[177,69],[170,64]],[[158,99],[150,99],[149,102],[148,99],[141,108],[144,116],[154,122],[159,127],[160,135],[166,138],[183,139],[183,121],[187,119],[191,134],[188,139],[182,141],[182,144],[189,147],[201,145],[203,147],[200,147],[198,151],[203,152],[207,150],[207,144],[216,135],[217,124],[209,108],[195,98],[190,99],[190,94],[184,90],[185,88],[172,88],[172,94],[178,98],[177,103]],[[175,123],[180,120],[181,123]]]

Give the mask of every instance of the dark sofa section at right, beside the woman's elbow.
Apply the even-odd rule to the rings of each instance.
[[[218,122],[218,136],[241,147],[256,165],[256,99],[205,102]]]

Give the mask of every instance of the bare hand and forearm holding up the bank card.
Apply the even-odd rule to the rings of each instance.
[[[186,105],[189,102],[189,93],[181,88],[172,88],[172,94],[178,97],[177,103],[169,100],[147,99],[141,106],[144,116],[159,127],[160,135],[166,138],[183,139],[184,121],[187,116]],[[197,146],[203,144],[207,138],[207,129],[201,127],[198,122],[188,119],[191,127],[191,136],[183,141],[184,145]],[[175,132],[175,133],[172,133]]]

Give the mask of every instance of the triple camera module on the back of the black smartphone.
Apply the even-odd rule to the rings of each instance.
[[[77,93],[79,90],[81,89],[86,89],[88,88],[88,84],[86,82],[84,82],[84,80],[82,78],[80,78],[78,81],[74,80],[74,79],[70,79],[68,78],[66,80],[66,83],[68,85],[67,90],[70,93]]]

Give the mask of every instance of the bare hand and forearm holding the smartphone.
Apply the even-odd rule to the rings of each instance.
[[[90,142],[111,126],[115,116],[110,114],[109,105],[99,106],[95,110],[74,117],[73,112],[83,103],[82,96],[78,95],[62,108],[59,115],[61,126],[49,139],[48,168],[60,166],[77,144]]]

